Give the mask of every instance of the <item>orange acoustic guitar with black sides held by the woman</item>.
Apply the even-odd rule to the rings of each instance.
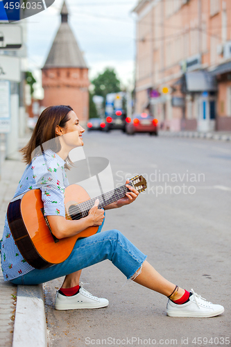
[[[143,176],[130,178],[129,185],[138,192],[146,189]],[[126,185],[97,196],[99,208],[123,198],[130,189]],[[88,215],[96,198],[90,198],[80,185],[69,185],[65,189],[66,219],[80,219]],[[57,239],[53,234],[47,218],[44,216],[44,205],[40,189],[32,189],[16,196],[8,205],[8,223],[15,244],[20,253],[35,269],[46,269],[54,264],[64,262],[71,254],[80,237],[96,234],[102,226],[91,226],[77,235]]]

